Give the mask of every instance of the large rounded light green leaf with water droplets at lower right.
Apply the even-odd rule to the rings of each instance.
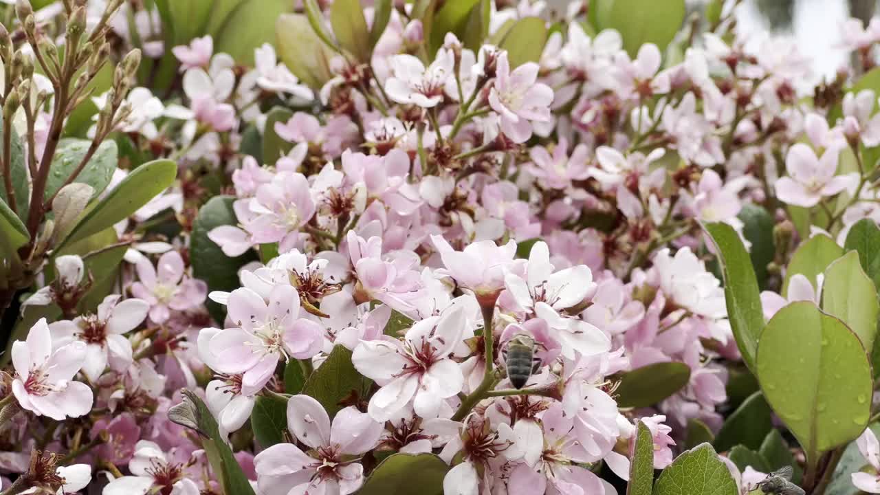
[[[818,462],[820,454],[868,425],[873,380],[862,342],[810,301],[783,307],[767,323],[758,380],[808,462]]]

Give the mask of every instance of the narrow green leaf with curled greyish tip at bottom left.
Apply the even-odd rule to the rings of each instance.
[[[211,469],[220,480],[223,492],[231,495],[254,495],[250,482],[238,465],[231,448],[220,437],[216,419],[208,406],[190,390],[184,390],[183,402],[168,410],[168,418],[199,433]]]

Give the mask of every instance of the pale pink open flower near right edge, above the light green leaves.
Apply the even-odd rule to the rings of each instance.
[[[835,175],[840,150],[831,148],[818,159],[810,146],[798,143],[788,149],[785,168],[790,177],[776,181],[776,196],[785,203],[810,208],[824,196],[834,196],[840,191],[854,193],[859,174]]]

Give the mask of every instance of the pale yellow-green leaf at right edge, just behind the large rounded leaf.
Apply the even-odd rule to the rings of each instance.
[[[880,306],[876,286],[862,271],[855,251],[843,255],[825,270],[822,310],[846,323],[866,350],[874,349]]]

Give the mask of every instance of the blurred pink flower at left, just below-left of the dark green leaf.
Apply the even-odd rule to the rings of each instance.
[[[131,292],[150,305],[150,320],[155,323],[168,321],[172,309],[199,307],[208,295],[207,284],[184,275],[183,258],[177,251],[162,255],[156,268],[143,259],[137,262],[136,270],[140,281],[131,285]]]

